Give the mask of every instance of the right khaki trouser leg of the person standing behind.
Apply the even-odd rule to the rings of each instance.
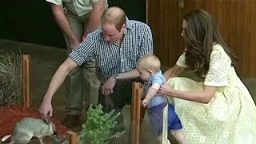
[[[84,19],[84,30],[89,22],[90,13],[85,14],[82,18]],[[90,105],[96,106],[98,104],[98,88],[99,80],[95,74],[95,58],[91,58],[90,61],[84,62],[83,65],[83,76],[85,78],[85,96],[86,96],[86,108]]]

